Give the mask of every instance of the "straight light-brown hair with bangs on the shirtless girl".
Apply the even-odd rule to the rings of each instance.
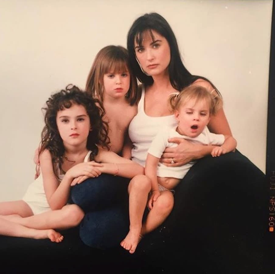
[[[130,88],[126,98],[130,105],[134,105],[139,98],[137,94],[137,79],[131,71],[128,51],[122,46],[106,46],[97,53],[90,69],[85,89],[92,97],[98,98],[103,102],[103,93],[105,91],[103,85],[104,74],[126,71],[130,74]]]

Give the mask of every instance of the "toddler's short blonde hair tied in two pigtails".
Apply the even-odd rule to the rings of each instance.
[[[169,96],[169,105],[172,111],[179,110],[189,100],[195,100],[195,103],[201,100],[206,100],[209,104],[210,115],[215,115],[222,107],[222,99],[215,90],[208,91],[203,86],[190,85],[184,88],[181,92],[172,93]]]

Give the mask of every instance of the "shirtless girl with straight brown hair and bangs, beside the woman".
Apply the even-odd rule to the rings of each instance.
[[[103,119],[110,128],[111,150],[130,158],[131,145],[124,146],[124,140],[128,140],[128,125],[137,113],[140,93],[127,49],[110,45],[99,50],[87,77],[86,90],[103,104]]]

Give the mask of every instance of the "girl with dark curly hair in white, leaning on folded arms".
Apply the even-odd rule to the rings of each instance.
[[[22,200],[0,203],[0,234],[61,242],[63,236],[52,228],[74,227],[84,216],[80,207],[68,204],[72,185],[101,173],[132,178],[144,171],[109,151],[108,124],[99,100],[70,85],[46,105],[41,174]]]

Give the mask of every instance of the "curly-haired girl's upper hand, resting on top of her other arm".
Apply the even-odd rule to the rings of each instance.
[[[66,172],[65,176],[71,178],[72,180],[83,175],[87,177],[92,177],[92,178],[98,177],[101,174],[101,172],[97,167],[102,167],[102,166],[103,164],[97,163],[95,161],[79,163],[71,167]]]

